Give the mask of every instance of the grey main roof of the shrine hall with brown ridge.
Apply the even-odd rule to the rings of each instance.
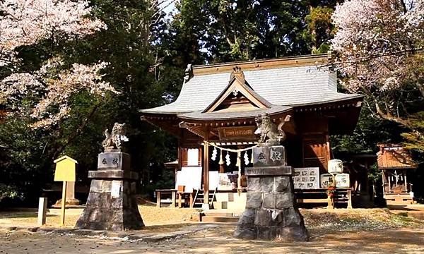
[[[196,111],[204,111],[227,87],[231,70],[235,66],[241,68],[252,90],[273,105],[300,107],[362,98],[363,95],[337,92],[336,73],[326,66],[326,57],[325,54],[194,66],[194,75],[187,77],[175,102],[142,109],[141,112],[194,112],[192,115],[195,116],[198,114]]]

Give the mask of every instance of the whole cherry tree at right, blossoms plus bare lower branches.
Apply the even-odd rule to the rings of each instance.
[[[332,18],[343,85],[367,95],[375,116],[400,123],[423,140],[423,129],[414,124],[420,114],[411,104],[424,99],[424,1],[349,0],[336,6]]]

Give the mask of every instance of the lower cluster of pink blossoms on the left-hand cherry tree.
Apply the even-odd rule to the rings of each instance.
[[[73,63],[71,70],[52,72],[61,64],[60,59],[51,59],[39,71],[30,73],[15,73],[0,81],[0,102],[12,105],[18,113],[28,109],[18,103],[26,96],[41,97],[30,109],[30,115],[37,121],[33,128],[45,128],[69,115],[71,110],[68,99],[76,92],[86,90],[92,95],[105,96],[105,92],[117,93],[114,88],[104,81],[100,71],[107,63],[100,62],[91,66]],[[54,73],[54,75],[52,75]],[[56,111],[49,110],[57,108]]]

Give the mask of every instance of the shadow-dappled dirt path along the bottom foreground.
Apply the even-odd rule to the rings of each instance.
[[[240,241],[234,224],[160,241],[61,236],[0,230],[0,253],[424,253],[424,229],[325,231],[312,229],[307,243]]]

